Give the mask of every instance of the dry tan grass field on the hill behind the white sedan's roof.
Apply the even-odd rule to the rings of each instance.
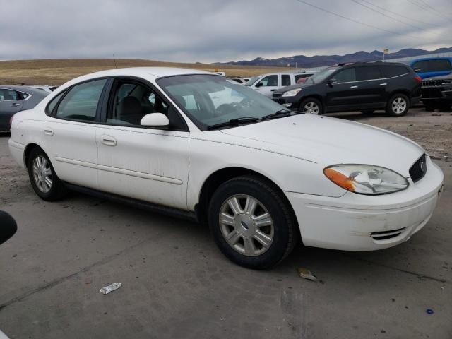
[[[257,76],[287,70],[281,67],[258,66],[217,66],[210,64],[183,64],[176,62],[116,59],[117,68],[134,66],[166,66],[202,69],[204,71],[223,71],[227,76]],[[47,60],[18,60],[0,61],[0,83],[11,85],[49,84],[61,85],[71,78],[83,74],[114,69],[113,59],[47,59]]]

